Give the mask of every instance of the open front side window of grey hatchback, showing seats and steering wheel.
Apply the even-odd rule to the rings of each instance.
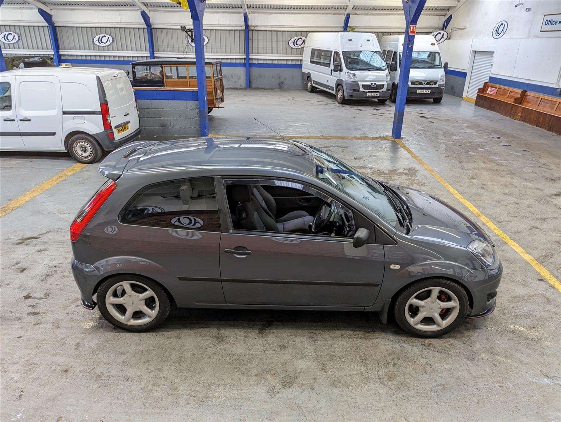
[[[351,238],[353,213],[301,183],[286,180],[226,180],[234,230]]]

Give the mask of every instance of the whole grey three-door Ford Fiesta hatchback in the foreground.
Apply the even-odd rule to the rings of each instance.
[[[502,265],[477,224],[305,143],[137,141],[99,171],[71,265],[82,305],[125,330],[173,303],[376,311],[436,337],[495,309]]]

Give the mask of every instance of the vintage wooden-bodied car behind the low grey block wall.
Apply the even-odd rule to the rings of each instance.
[[[197,68],[194,60],[151,59],[132,62],[132,86],[154,88],[197,89]],[[224,102],[222,62],[206,61],[206,96],[209,113]]]

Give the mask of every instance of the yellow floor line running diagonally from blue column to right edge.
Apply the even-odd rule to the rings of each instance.
[[[493,230],[495,234],[497,234],[501,239],[503,239],[504,242],[507,245],[509,245],[512,249],[514,249],[514,251],[516,251],[522,258],[526,259],[526,261],[528,261],[530,265],[534,267],[536,271],[539,272],[541,276],[544,277],[544,279],[549,282],[549,284],[551,284],[553,287],[555,287],[555,289],[561,292],[561,282],[559,282],[559,280],[557,280],[553,274],[551,274],[548,270],[546,270],[544,266],[542,266],[539,262],[537,262],[536,259],[532,257],[528,252],[526,252],[518,243],[514,242],[514,240],[512,240],[508,234],[504,233],[503,230],[499,229],[493,223],[493,221],[489,220],[485,215],[483,215],[482,212],[479,211],[470,201],[466,200],[466,198],[463,197],[461,193],[459,193],[458,191],[456,191],[456,189],[450,186],[450,184],[446,182],[446,180],[444,180],[442,177],[440,177],[438,173],[436,173],[436,171],[430,168],[430,166],[426,164],[425,161],[423,161],[417,154],[415,154],[415,152],[411,151],[411,149],[409,149],[407,145],[405,145],[399,139],[396,139],[396,142],[398,143],[399,146],[401,146],[404,150],[406,150],[408,154],[411,155],[417,161],[417,163],[422,165],[426,171],[428,171],[431,175],[433,175],[433,177],[436,180],[438,180],[446,189],[448,189],[448,192],[452,193],[461,203],[463,203],[463,205],[469,208],[469,210],[473,212],[473,214],[479,217],[479,219],[483,221],[485,225],[488,226],[488,228]]]

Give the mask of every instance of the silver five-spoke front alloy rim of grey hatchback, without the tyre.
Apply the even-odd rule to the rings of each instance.
[[[445,300],[441,300],[443,298]],[[405,305],[405,319],[413,328],[420,331],[442,330],[454,322],[458,314],[457,296],[444,287],[427,287],[419,290]]]

